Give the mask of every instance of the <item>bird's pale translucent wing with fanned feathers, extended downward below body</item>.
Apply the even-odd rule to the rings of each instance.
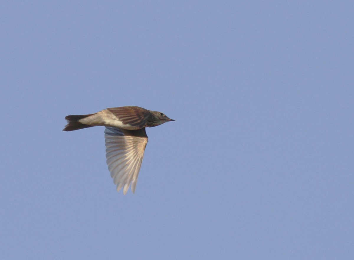
[[[145,128],[124,130],[106,127],[104,138],[107,165],[114,184],[117,185],[117,191],[124,187],[123,193],[125,195],[132,183],[134,193],[144,150],[148,143]]]

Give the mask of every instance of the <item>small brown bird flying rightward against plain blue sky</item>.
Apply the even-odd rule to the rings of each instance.
[[[164,113],[137,106],[113,107],[87,115],[67,115],[63,131],[105,126],[108,170],[119,192],[135,193],[148,136],[145,128],[175,121]]]

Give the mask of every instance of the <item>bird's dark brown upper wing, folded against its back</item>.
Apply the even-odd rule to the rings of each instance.
[[[116,118],[123,124],[136,126],[137,129],[143,128],[146,120],[150,115],[150,111],[142,107],[113,107],[107,108]]]

